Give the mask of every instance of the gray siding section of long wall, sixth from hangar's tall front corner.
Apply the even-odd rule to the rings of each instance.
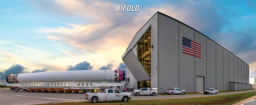
[[[223,49],[223,90],[228,90],[229,82],[229,52]]]

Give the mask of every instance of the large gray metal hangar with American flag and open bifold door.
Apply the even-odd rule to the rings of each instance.
[[[194,28],[156,12],[122,56],[131,87],[248,90],[249,65]]]

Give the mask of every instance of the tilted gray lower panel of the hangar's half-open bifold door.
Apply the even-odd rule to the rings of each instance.
[[[128,51],[128,53],[125,55],[125,57],[123,58],[123,62],[137,81],[151,79],[145,68],[141,65],[140,61],[131,50]]]

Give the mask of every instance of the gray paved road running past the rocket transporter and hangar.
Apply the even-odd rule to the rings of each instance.
[[[216,95],[244,93],[244,92],[252,92],[252,91],[256,91],[256,90],[218,93],[218,94],[211,94],[211,95],[204,95],[204,94],[190,94],[190,95],[185,94],[185,95],[166,95],[166,96],[162,96],[159,94],[157,94],[156,96],[132,95],[131,100],[153,100],[153,99],[177,99],[177,98],[205,97],[205,96],[216,96]],[[11,90],[0,90],[1,105],[8,105],[8,104],[31,105],[31,104],[71,102],[71,101],[78,102],[78,101],[88,101],[88,100],[85,100],[85,94],[27,93],[27,92],[15,93],[15,91],[11,91]]]

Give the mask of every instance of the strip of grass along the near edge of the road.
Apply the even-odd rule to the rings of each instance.
[[[49,103],[40,105],[223,105],[234,104],[244,99],[256,95],[256,92],[246,92],[219,96],[183,98],[183,99],[164,99],[164,100],[129,100],[127,103],[121,101],[91,101],[84,102],[63,102]]]

